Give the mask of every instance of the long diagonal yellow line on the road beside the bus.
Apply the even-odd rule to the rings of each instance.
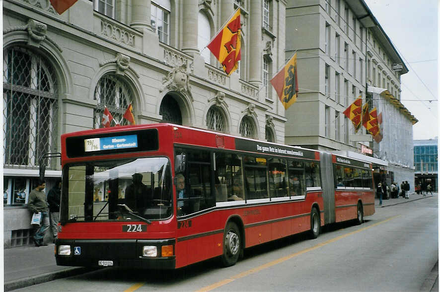
[[[352,232],[346,233],[346,234],[344,234],[344,235],[340,235],[340,236],[338,236],[338,237],[335,237],[335,238],[329,239],[329,240],[327,240],[327,241],[325,241],[325,242],[322,242],[322,243],[316,244],[315,246],[312,246],[312,247],[310,247],[310,248],[303,249],[303,250],[301,250],[301,251],[298,251],[298,252],[295,252],[295,253],[290,254],[290,255],[288,255],[288,256],[285,256],[285,257],[279,258],[279,259],[277,259],[277,260],[274,260],[274,261],[272,261],[272,262],[269,262],[269,263],[266,263],[266,264],[264,264],[264,265],[258,266],[258,267],[256,267],[256,268],[253,268],[253,269],[250,269],[250,270],[244,271],[244,272],[242,272],[242,273],[240,273],[240,274],[238,274],[238,275],[235,275],[235,276],[232,276],[232,277],[230,277],[230,278],[224,279],[224,280],[219,281],[219,282],[217,282],[217,283],[214,283],[214,284],[212,284],[212,285],[205,286],[205,287],[203,287],[203,288],[197,290],[196,292],[207,292],[207,291],[214,290],[214,289],[219,288],[219,287],[221,287],[221,286],[223,286],[223,285],[226,285],[226,284],[228,284],[228,283],[231,283],[231,282],[234,281],[234,280],[237,280],[237,279],[240,279],[240,278],[246,277],[246,276],[248,276],[248,275],[254,274],[254,273],[259,272],[259,271],[261,271],[261,270],[264,270],[264,269],[270,268],[270,267],[272,267],[272,266],[278,265],[278,264],[280,264],[280,263],[282,263],[282,262],[285,262],[285,261],[287,261],[287,260],[290,260],[290,259],[292,259],[292,258],[294,258],[294,257],[296,257],[296,256],[298,256],[298,255],[301,255],[301,254],[304,254],[304,253],[306,253],[306,252],[309,252],[309,251],[315,250],[315,249],[320,248],[320,247],[322,247],[322,246],[324,246],[324,245],[327,245],[327,244],[329,244],[329,243],[332,243],[332,242],[338,241],[339,239],[342,239],[342,238],[345,238],[345,237],[347,237],[347,236],[350,236],[350,235],[356,234],[356,233],[358,233],[358,232],[361,232],[361,231],[367,230],[367,229],[369,229],[369,228],[371,228],[371,227],[374,227],[374,226],[377,226],[377,225],[379,225],[379,224],[385,223],[385,222],[387,222],[387,221],[389,221],[389,220],[392,220],[392,219],[395,219],[395,218],[397,218],[397,217],[400,217],[400,215],[397,215],[397,216],[394,216],[394,217],[391,217],[391,218],[385,219],[385,220],[383,220],[383,221],[380,221],[380,222],[377,222],[377,223],[371,224],[371,225],[369,225],[369,226],[367,226],[367,227],[364,227],[364,228],[361,228],[361,229],[359,229],[359,230],[355,230],[355,231],[352,231]]]

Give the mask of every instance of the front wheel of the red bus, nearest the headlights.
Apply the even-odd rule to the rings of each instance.
[[[223,255],[221,262],[224,267],[235,265],[242,250],[240,229],[234,222],[226,225],[223,233]]]

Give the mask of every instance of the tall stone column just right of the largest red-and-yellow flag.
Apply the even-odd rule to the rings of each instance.
[[[258,87],[261,85],[261,66],[263,51],[261,47],[261,1],[250,1],[249,8],[249,83]]]

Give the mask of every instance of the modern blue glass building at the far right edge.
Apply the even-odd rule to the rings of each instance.
[[[416,183],[431,183],[433,190],[439,189],[439,139],[414,140],[414,167]]]

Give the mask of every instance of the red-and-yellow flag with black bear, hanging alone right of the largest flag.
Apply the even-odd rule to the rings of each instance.
[[[287,64],[281,69],[272,79],[271,83],[277,91],[278,98],[284,105],[285,109],[288,109],[298,96],[298,76],[296,66],[296,53]]]

